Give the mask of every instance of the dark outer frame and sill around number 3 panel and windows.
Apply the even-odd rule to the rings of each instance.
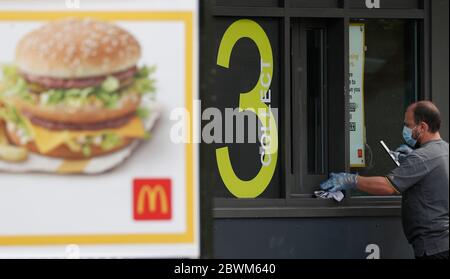
[[[344,94],[340,102],[344,102],[344,131],[342,141],[345,143],[344,148],[329,153],[330,164],[329,171],[342,170],[348,171],[349,158],[349,137],[348,137],[348,44],[349,32],[348,27],[352,18],[367,19],[414,19],[418,21],[418,67],[419,67],[419,85],[421,95],[418,99],[430,99],[430,0],[420,0],[419,7],[407,9],[360,9],[350,8],[350,0],[339,0],[338,7],[329,8],[289,8],[293,0],[280,0],[276,7],[232,7],[232,6],[215,6],[213,0],[203,1],[201,6],[201,21],[203,23],[203,31],[201,35],[201,45],[205,44],[205,38],[213,32],[214,17],[233,16],[236,18],[255,18],[255,17],[276,17],[280,18],[282,30],[280,30],[280,38],[284,42],[281,44],[281,74],[282,92],[281,102],[284,105],[282,113],[280,113],[280,168],[282,172],[281,188],[285,193],[285,198],[281,199],[233,199],[233,198],[213,198],[214,217],[216,218],[241,218],[241,217],[340,217],[340,216],[400,216],[401,197],[389,196],[356,196],[344,199],[341,203],[330,200],[314,199],[312,195],[298,196],[292,191],[295,183],[295,177],[292,174],[292,123],[291,123],[291,26],[296,19],[300,18],[321,18],[321,19],[339,19],[342,25],[339,31],[343,34],[343,45],[339,46],[337,53],[343,55],[344,75],[342,76],[344,84]],[[413,1],[411,1],[413,2]],[[416,1],[417,2],[417,1]],[[210,36],[211,37],[211,36]],[[202,42],[203,41],[203,42]],[[212,64],[215,61],[215,51],[212,48],[204,47],[202,57],[208,61],[206,64]],[[210,63],[211,62],[211,63]],[[205,63],[202,63],[200,70],[201,80],[208,80],[209,69]],[[201,96],[205,96],[208,92],[206,85],[200,89]],[[341,108],[342,109],[342,108]],[[280,110],[281,111],[281,110]],[[331,112],[329,112],[331,113]],[[330,135],[332,136],[332,135]],[[200,148],[201,149],[201,148]],[[202,151],[200,151],[200,156]],[[339,158],[344,161],[334,164],[333,159]],[[212,197],[211,185],[207,184],[207,175],[200,173],[202,196]]]

